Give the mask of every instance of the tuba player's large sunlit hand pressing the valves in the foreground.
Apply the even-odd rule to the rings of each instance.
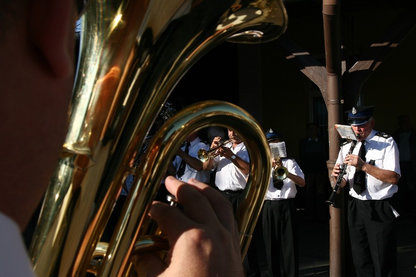
[[[173,178],[166,189],[176,196],[183,212],[153,202],[150,216],[169,241],[166,260],[156,253],[133,258],[139,276],[244,276],[237,222],[230,202],[212,187],[190,179]]]

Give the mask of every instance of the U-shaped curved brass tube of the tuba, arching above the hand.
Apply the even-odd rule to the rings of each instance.
[[[120,268],[128,269],[129,258],[135,243],[147,230],[142,229],[148,209],[153,201],[162,177],[181,142],[192,131],[218,125],[233,126],[241,134],[250,155],[250,175],[235,218],[240,234],[242,257],[247,253],[251,235],[260,214],[270,182],[270,149],[258,123],[241,108],[222,101],[206,101],[194,104],[169,119],[154,137],[145,158],[139,164],[135,183],[126,200],[124,216],[119,221],[103,260],[104,276],[116,276]],[[250,130],[250,132],[247,132]],[[143,174],[152,170],[152,174]],[[139,222],[139,223],[137,223]],[[146,224],[144,224],[146,225]],[[131,239],[133,238],[133,239]],[[115,257],[111,261],[109,257]]]

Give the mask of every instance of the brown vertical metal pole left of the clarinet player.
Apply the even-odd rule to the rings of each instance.
[[[340,140],[334,128],[341,119],[341,40],[340,40],[340,0],[323,0],[322,14],[324,23],[325,58],[328,73],[328,108],[329,126],[329,160],[327,161],[328,175],[331,173],[338,155]],[[343,195],[342,189],[340,190]],[[344,201],[336,199],[336,207],[330,206],[330,277],[344,276]]]

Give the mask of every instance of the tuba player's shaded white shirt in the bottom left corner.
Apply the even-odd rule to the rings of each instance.
[[[16,222],[0,213],[0,226],[0,275],[35,277]]]

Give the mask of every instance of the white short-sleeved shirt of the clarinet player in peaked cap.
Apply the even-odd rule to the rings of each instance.
[[[372,130],[370,135],[366,139],[365,148],[367,153],[365,155],[366,162],[374,165],[375,167],[391,170],[400,174],[400,165],[399,165],[399,152],[397,149],[397,144],[395,140],[384,133],[379,133]],[[354,147],[353,154],[358,155],[359,149],[361,147],[361,141],[357,141],[357,144]],[[342,158],[341,151],[339,152],[338,159],[336,163],[342,164],[342,160],[347,156],[348,151],[350,151],[351,142],[342,146]],[[344,179],[349,182],[350,185],[350,195],[352,197],[361,199],[361,200],[381,200],[385,198],[390,198],[397,192],[397,186],[380,181],[373,176],[366,174],[367,187],[360,195],[357,195],[353,189],[354,185],[354,173],[355,167],[348,166],[346,169],[346,174]]]

